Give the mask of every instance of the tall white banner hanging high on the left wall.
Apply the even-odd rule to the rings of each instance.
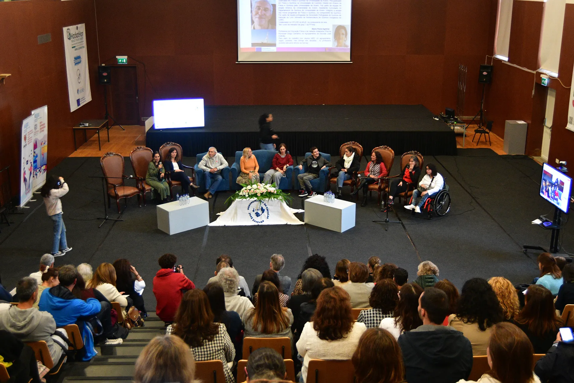
[[[85,24],[64,27],[68,96],[72,112],[92,100],[85,29]]]

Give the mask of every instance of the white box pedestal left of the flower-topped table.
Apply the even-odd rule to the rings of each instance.
[[[201,198],[192,197],[187,205],[178,201],[157,206],[157,228],[169,235],[181,233],[210,223],[210,204]]]

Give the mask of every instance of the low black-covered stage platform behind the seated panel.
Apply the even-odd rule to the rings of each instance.
[[[424,156],[456,155],[454,131],[422,105],[259,105],[207,106],[205,127],[177,130],[149,129],[146,146],[157,150],[177,142],[184,156],[195,157],[215,146],[234,156],[246,146],[259,149],[257,120],[273,114],[273,129],[289,152],[304,156],[311,146],[337,155],[341,144],[356,141],[368,154],[375,146],[393,148],[395,156],[418,150]]]

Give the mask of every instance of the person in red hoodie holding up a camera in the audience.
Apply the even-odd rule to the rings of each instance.
[[[164,254],[158,260],[161,269],[153,278],[153,295],[156,296],[156,314],[165,322],[171,324],[176,315],[181,297],[195,289],[195,285],[183,273],[183,266],[176,266],[177,257],[174,254]]]

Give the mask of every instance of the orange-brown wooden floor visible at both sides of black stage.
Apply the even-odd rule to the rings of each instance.
[[[106,131],[100,131],[100,141],[102,142],[102,150],[98,150],[98,136],[91,137],[88,142],[80,146],[75,152],[70,154],[70,157],[101,157],[107,152],[115,152],[127,157],[130,155],[131,150],[136,146],[145,146],[145,126],[127,125],[123,126],[126,130],[122,130],[119,126],[114,126],[110,129],[110,142],[107,142]],[[478,146],[478,135],[472,142],[475,125],[471,125],[467,129],[467,137],[464,141],[464,148],[491,148],[498,154],[506,154],[503,150],[504,140],[494,133],[490,133],[490,140],[492,145],[484,141],[484,136],[480,138]],[[77,135],[77,143],[82,142],[82,134]],[[463,135],[456,135],[456,147],[463,147]]]

